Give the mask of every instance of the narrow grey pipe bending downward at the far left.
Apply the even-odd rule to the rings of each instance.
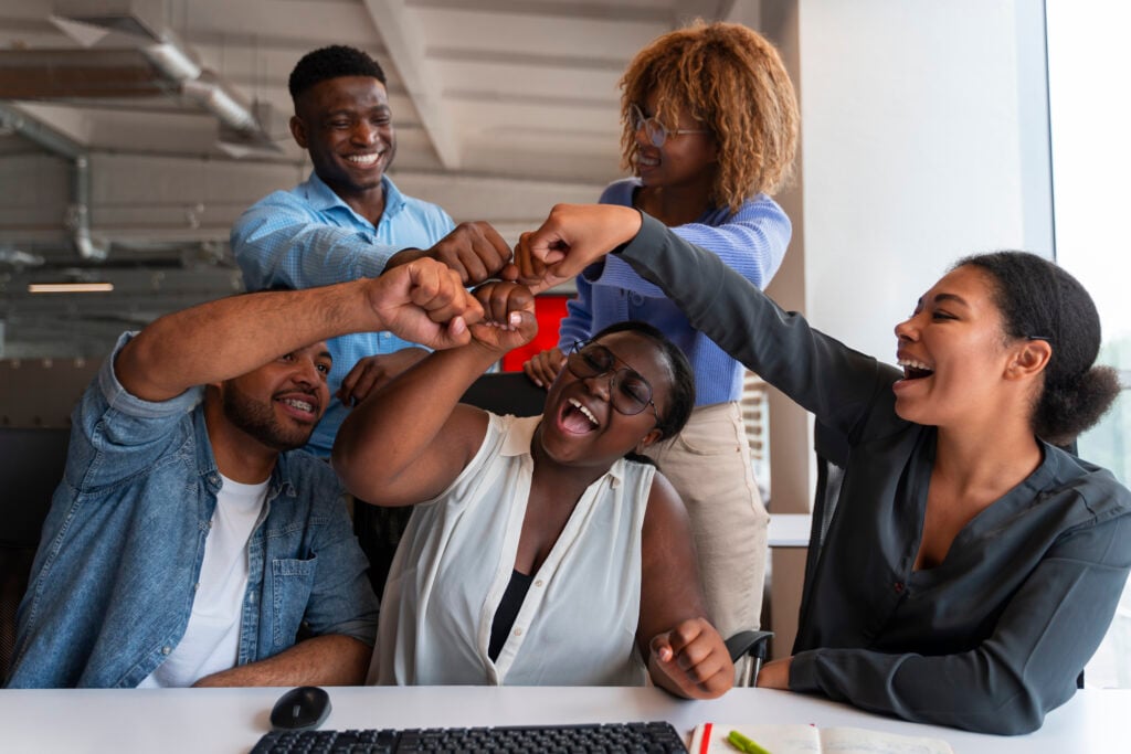
[[[90,158],[86,148],[6,102],[0,102],[0,123],[71,162],[71,202],[67,207],[63,226],[71,232],[71,241],[80,258],[97,262],[105,260],[110,243],[96,241],[90,233]]]

